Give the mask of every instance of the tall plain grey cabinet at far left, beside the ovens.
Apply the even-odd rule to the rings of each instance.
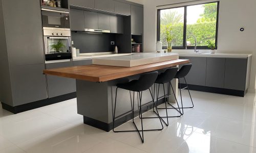
[[[7,89],[0,100],[14,107],[46,99],[40,1],[1,0],[0,16],[0,68],[5,73],[0,79],[0,91]]]

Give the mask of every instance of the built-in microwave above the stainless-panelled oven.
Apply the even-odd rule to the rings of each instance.
[[[69,12],[41,9],[42,27],[70,29]]]

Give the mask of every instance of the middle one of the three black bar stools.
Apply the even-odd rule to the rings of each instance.
[[[159,74],[158,77],[157,77],[157,80],[155,81],[155,84],[158,84],[158,92],[157,92],[157,104],[158,104],[158,100],[164,98],[165,100],[165,108],[158,108],[158,106],[156,105],[156,109],[165,109],[166,111],[166,116],[160,116],[161,119],[162,118],[167,118],[167,123],[162,119],[162,121],[164,122],[164,124],[166,126],[169,125],[169,121],[168,121],[168,117],[180,117],[182,114],[181,114],[181,111],[180,111],[180,107],[179,107],[179,103],[178,103],[178,100],[176,98],[176,95],[175,95],[175,92],[174,92],[174,88],[173,88],[173,85],[171,83],[171,81],[174,79],[175,75],[177,74],[178,72],[178,67],[172,67],[172,68],[168,68],[166,69],[163,73]],[[165,86],[164,84],[165,83],[168,83],[168,91],[167,91],[167,94],[165,93]],[[164,92],[164,95],[159,97],[159,89],[160,89],[160,84],[163,85],[163,92]],[[173,93],[169,94],[169,88],[172,88],[173,90]],[[169,96],[171,96],[172,94],[174,94],[174,97],[175,97],[175,100],[176,100],[176,103],[178,105],[178,109],[175,108],[172,104],[169,104],[168,102],[168,99],[169,99]],[[167,104],[170,105],[172,108],[167,108]],[[168,116],[168,112],[167,112],[167,109],[175,109],[180,115],[178,116]],[[155,112],[154,108],[153,108],[153,111]],[[157,112],[155,112],[157,113]],[[156,117],[144,117],[144,118],[156,118]]]

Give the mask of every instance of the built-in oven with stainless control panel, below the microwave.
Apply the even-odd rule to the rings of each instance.
[[[70,36],[70,30],[44,28],[45,60],[72,59]]]

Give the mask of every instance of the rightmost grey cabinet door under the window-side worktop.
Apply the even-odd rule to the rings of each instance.
[[[247,59],[227,58],[225,64],[224,88],[245,90]]]

